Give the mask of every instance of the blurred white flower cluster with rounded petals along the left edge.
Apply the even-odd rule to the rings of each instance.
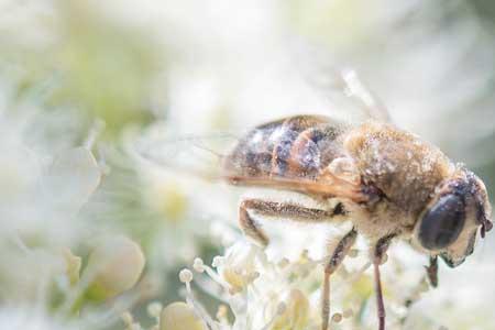
[[[16,107],[0,109],[0,329],[106,329],[139,296],[124,294],[145,257],[138,243],[98,233],[82,215],[105,175],[92,151],[101,124],[76,144],[69,138],[82,130],[62,134],[66,117]],[[67,140],[54,143],[54,133]]]

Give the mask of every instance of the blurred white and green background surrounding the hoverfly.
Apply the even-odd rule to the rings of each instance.
[[[336,96],[336,69],[355,69],[397,125],[465,163],[493,197],[494,55],[488,0],[0,0],[0,306],[31,306],[36,279],[15,274],[38,270],[20,261],[12,232],[84,264],[97,237],[125,234],[146,258],[135,314],[177,300],[178,271],[211,262],[218,232],[237,231],[239,193],[143,167],[129,141],[156,128],[201,136],[295,113],[359,117]],[[99,174],[85,155],[57,167],[78,146]],[[80,178],[64,176],[74,167]],[[42,195],[70,208],[54,212]],[[451,305],[484,323],[449,329],[495,327],[495,240],[480,245],[459,272],[441,270],[441,285],[465,292]]]

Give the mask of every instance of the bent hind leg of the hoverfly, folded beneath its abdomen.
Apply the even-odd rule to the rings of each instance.
[[[276,202],[264,199],[245,199],[239,208],[239,222],[244,233],[257,243],[266,246],[270,242],[266,233],[253,219],[251,212],[260,216],[284,218],[299,222],[323,222],[338,216],[344,216],[345,210],[338,204],[333,210],[307,208],[297,204]]]

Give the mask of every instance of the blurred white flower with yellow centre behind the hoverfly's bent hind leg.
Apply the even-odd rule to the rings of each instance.
[[[136,141],[154,140],[138,133],[129,130],[121,148],[105,151],[110,172],[88,209],[99,222],[139,238],[150,252],[150,270],[163,276],[199,253],[212,224],[234,217],[237,200],[211,183],[143,160]]]

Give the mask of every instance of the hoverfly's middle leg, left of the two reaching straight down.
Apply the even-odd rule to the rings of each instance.
[[[336,272],[339,265],[342,263],[343,258],[349,253],[349,250],[354,244],[356,237],[358,232],[354,229],[346,233],[339,242],[339,244],[337,244],[336,250],[333,251],[330,260],[324,266],[323,292],[321,297],[322,330],[328,329],[328,322],[330,318],[330,275],[332,275],[333,272]]]

